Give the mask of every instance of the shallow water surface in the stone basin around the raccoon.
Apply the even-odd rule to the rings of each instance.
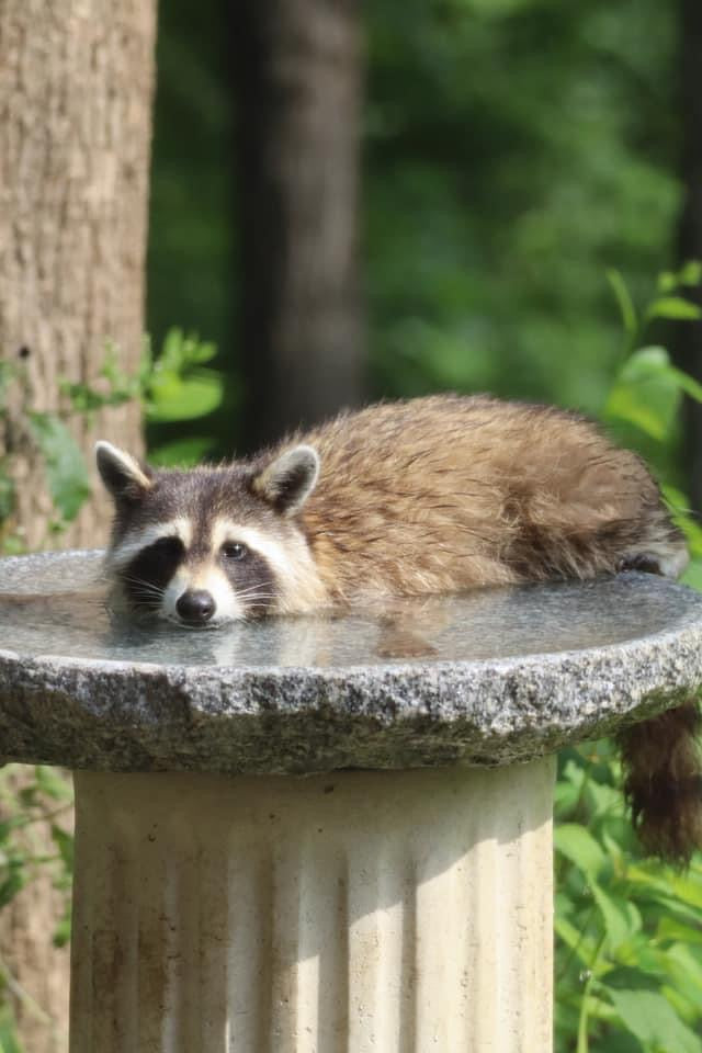
[[[702,598],[625,574],[476,590],[214,630],[137,626],[114,616],[101,553],[0,561],[0,649],[160,665],[354,666],[484,660],[624,643],[672,630]]]

